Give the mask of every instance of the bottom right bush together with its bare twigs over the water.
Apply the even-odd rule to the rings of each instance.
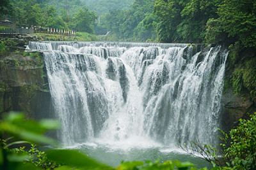
[[[191,145],[184,143],[180,147],[191,155],[211,162],[213,169],[255,169],[256,113],[250,115],[248,120],[240,119],[239,122],[228,134],[218,129],[222,134],[218,136],[221,150],[200,141]]]

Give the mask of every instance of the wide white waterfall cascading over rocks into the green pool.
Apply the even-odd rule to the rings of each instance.
[[[44,52],[64,145],[216,142],[228,52],[187,44],[29,42]]]

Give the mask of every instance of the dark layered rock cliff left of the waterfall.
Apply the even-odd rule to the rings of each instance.
[[[51,114],[51,94],[40,52],[16,50],[0,57],[0,115],[23,111],[27,117]]]

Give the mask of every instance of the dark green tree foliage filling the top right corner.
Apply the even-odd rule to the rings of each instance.
[[[225,0],[218,8],[223,30],[246,47],[256,47],[256,2]]]

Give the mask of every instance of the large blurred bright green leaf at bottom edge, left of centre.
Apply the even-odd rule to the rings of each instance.
[[[46,154],[49,159],[68,166],[88,168],[107,167],[76,150],[49,150]]]

